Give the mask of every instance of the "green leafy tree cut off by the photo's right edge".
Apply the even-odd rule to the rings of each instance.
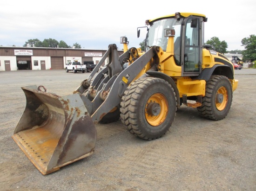
[[[243,60],[256,60],[256,36],[252,34],[250,37],[243,38],[241,43],[245,48],[242,52]]]

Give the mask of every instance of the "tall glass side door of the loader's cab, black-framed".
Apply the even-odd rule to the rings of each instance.
[[[201,18],[184,19],[182,33],[182,76],[198,76],[202,70]]]

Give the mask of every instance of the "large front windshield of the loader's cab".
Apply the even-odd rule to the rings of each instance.
[[[180,21],[177,22],[177,19],[169,18],[155,21],[148,30],[146,51],[148,51],[151,46],[160,46],[163,51],[166,51],[168,42],[168,37],[164,37],[164,29],[166,28],[175,29],[174,42],[177,38],[180,39],[182,20],[183,19],[180,19]]]

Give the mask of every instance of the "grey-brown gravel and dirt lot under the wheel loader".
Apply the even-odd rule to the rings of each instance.
[[[145,141],[121,121],[97,124],[95,153],[42,175],[11,138],[26,100],[21,86],[71,94],[88,73],[0,71],[0,190],[256,191],[256,70],[239,80],[228,116],[200,117],[182,107],[161,139]]]

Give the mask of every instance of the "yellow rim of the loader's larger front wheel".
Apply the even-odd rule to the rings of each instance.
[[[168,114],[168,101],[161,93],[149,97],[145,107],[145,117],[151,126],[161,125]]]

